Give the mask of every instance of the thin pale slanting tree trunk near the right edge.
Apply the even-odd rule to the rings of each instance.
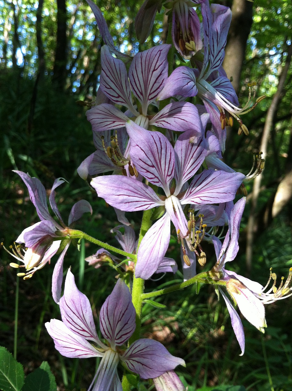
[[[281,95],[284,89],[284,83],[287,77],[288,68],[291,62],[291,56],[292,56],[292,45],[288,47],[287,50],[287,58],[285,66],[283,67],[283,70],[281,74],[279,75],[279,83],[277,92],[275,93],[271,106],[269,107],[267,111],[267,118],[265,120],[265,126],[263,128],[263,135],[262,135],[262,141],[260,145],[260,151],[263,152],[262,156],[265,158],[267,154],[267,145],[269,140],[269,135],[272,129],[274,117],[277,112],[278,104],[281,99]],[[256,206],[258,202],[258,196],[260,194],[260,185],[262,181],[262,176],[259,175],[254,179],[254,185],[253,185],[253,194],[252,194],[252,201],[251,201],[251,211],[249,214],[249,219],[247,222],[247,244],[246,244],[246,269],[247,274],[251,271],[251,263],[253,260],[253,239],[254,234],[258,231],[258,227],[256,226]]]

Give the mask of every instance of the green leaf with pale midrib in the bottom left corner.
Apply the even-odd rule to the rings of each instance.
[[[22,365],[17,362],[6,348],[0,346],[0,389],[2,391],[20,391],[24,383]]]

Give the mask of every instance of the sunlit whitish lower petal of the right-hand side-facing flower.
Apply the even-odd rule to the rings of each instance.
[[[265,307],[262,301],[254,296],[253,292],[235,278],[230,278],[227,281],[226,289],[237,303],[238,308],[245,319],[264,333],[264,327],[267,327],[267,323],[265,321]]]

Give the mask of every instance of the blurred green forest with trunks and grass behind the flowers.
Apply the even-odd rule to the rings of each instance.
[[[224,160],[245,174],[253,154],[262,151],[265,170],[247,186],[247,206],[241,226],[240,253],[230,265],[236,272],[266,284],[269,269],[280,280],[292,266],[292,3],[287,0],[223,0],[232,8],[231,29],[224,67],[240,103],[248,96],[247,83],[258,83],[257,96],[266,95],[244,116],[248,137],[228,131]],[[126,3],[126,4],[125,4]],[[157,14],[150,37],[140,45],[134,33],[134,18],[141,0],[98,1],[116,46],[134,55],[167,36],[165,9]],[[76,101],[94,100],[99,85],[102,40],[85,1],[0,0],[0,219],[1,241],[13,244],[20,232],[38,221],[27,188],[13,169],[37,176],[45,188],[54,178],[69,183],[57,189],[57,204],[63,218],[79,199],[93,207],[77,228],[115,245],[109,230],[118,224],[111,208],[77,175],[84,158],[95,151],[84,107]],[[178,59],[174,61],[178,64]],[[139,229],[141,215],[131,214]],[[113,286],[114,271],[84,266],[84,255],[97,248],[82,243],[81,251],[70,247],[64,269],[72,265],[79,289],[88,295],[98,324],[99,309]],[[215,263],[206,249],[210,269]],[[209,255],[210,254],[210,255]],[[54,349],[45,321],[59,318],[52,300],[52,265],[23,281],[9,266],[13,259],[0,252],[0,330],[2,344],[16,351],[14,325],[18,323],[17,359],[26,373],[47,360],[56,375],[58,390],[89,386],[98,364],[94,359],[66,359]],[[179,260],[173,238],[169,256]],[[201,268],[200,271],[203,269]],[[146,288],[180,282],[182,274],[167,275]],[[15,297],[19,289],[18,319]],[[246,347],[243,357],[222,300],[211,286],[196,287],[158,299],[167,308],[143,307],[143,335],[158,339],[174,355],[183,357],[186,368],[179,375],[189,391],[210,390],[218,384],[243,385],[253,391],[292,389],[292,300],[266,307],[268,328],[264,335],[243,319]],[[147,386],[147,382],[145,382]],[[149,385],[147,386],[147,389]]]

